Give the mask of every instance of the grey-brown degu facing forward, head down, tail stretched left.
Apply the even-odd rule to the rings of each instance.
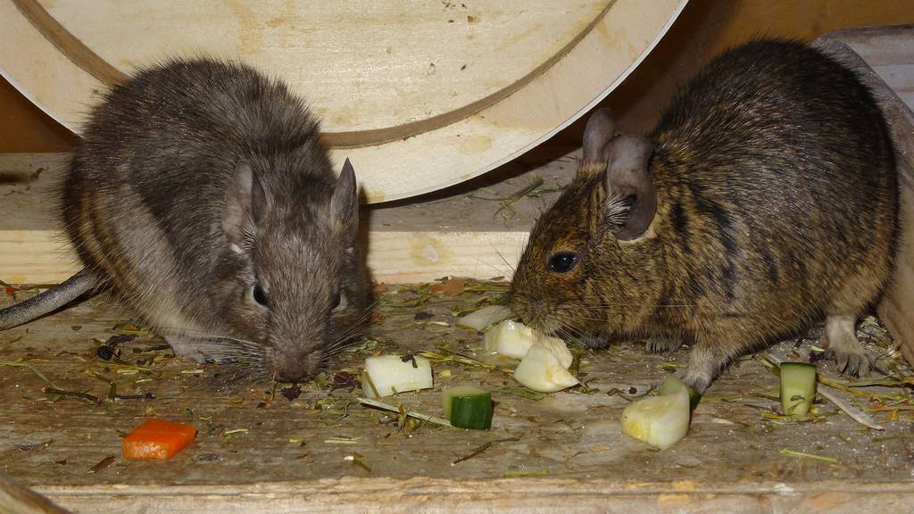
[[[303,380],[367,320],[358,193],[279,80],[172,60],[90,113],[61,187],[85,268],[0,311],[0,328],[110,289],[189,358],[245,379]]]

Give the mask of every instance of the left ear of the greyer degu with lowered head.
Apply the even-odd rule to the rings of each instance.
[[[242,246],[246,234],[257,227],[269,209],[269,198],[257,174],[246,161],[235,166],[235,176],[226,190],[222,230],[228,241]]]

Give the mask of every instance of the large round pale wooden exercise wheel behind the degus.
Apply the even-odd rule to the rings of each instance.
[[[374,203],[476,177],[555,134],[631,72],[685,0],[144,5],[4,0],[0,72],[79,132],[104,84],[60,48],[121,71],[201,52],[249,61],[309,99]]]

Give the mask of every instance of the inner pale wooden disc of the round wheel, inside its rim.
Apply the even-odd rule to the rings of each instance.
[[[13,2],[58,51],[106,84],[162,59],[165,48],[245,59],[282,72],[314,101],[327,141],[362,133],[355,145],[419,134],[519,91],[568,53],[613,4],[291,6],[266,0],[255,8],[219,0],[141,0],[125,9],[117,0],[96,0],[90,13],[79,2]],[[403,126],[420,121],[411,130]],[[394,127],[393,134],[365,139]]]

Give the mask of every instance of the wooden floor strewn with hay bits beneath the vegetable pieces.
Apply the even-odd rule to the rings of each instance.
[[[914,374],[875,325],[860,332],[871,357],[908,387],[828,391],[882,431],[821,398],[813,420],[780,419],[777,378],[748,357],[707,391],[685,440],[654,451],[621,434],[622,409],[681,367],[687,350],[649,354],[638,343],[585,352],[586,391],[525,398],[507,371],[441,361],[433,390],[388,399],[441,415],[442,388],[481,384],[497,403],[491,432],[401,423],[361,406],[358,390],[332,389],[345,382],[340,373],[356,374],[379,352],[480,357],[482,337],[453,325],[453,313],[492,301],[504,284],[480,288],[490,293],[449,297],[417,286],[384,294],[367,343],[292,401],[282,384],[215,391],[217,367],[173,358],[142,333],[122,346],[121,362],[101,360],[98,341],[130,322],[104,298],[9,330],[0,335],[0,471],[79,512],[521,512],[572,498],[579,511],[914,509]],[[4,295],[0,305],[12,300]],[[771,354],[805,359],[814,342],[789,341]],[[830,363],[820,369],[826,380],[846,382]],[[119,395],[154,400],[109,402],[111,383]],[[166,463],[124,460],[122,435],[150,416],[194,424],[197,442]]]

